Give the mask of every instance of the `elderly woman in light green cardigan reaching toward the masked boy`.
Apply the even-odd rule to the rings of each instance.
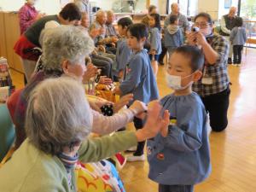
[[[163,125],[158,102],[148,108],[148,121],[137,132],[87,138],[93,115],[82,84],[71,78],[46,79],[32,90],[26,112],[27,139],[0,169],[1,191],[77,191],[77,160],[96,162],[155,137]],[[22,161],[22,163],[20,163]]]

